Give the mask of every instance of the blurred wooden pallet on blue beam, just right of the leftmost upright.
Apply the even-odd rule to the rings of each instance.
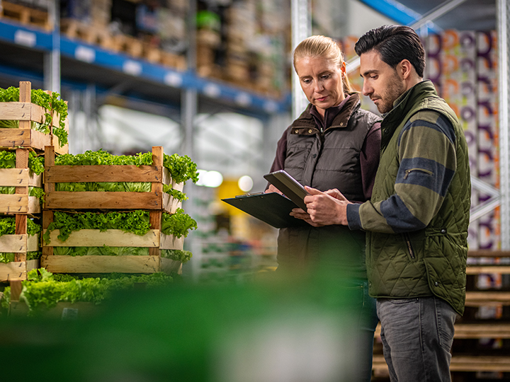
[[[81,40],[107,50],[114,47],[111,33],[98,25],[91,26],[74,18],[63,18],[60,21],[60,31],[72,40]]]

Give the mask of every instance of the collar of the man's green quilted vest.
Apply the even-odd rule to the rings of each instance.
[[[381,149],[385,149],[402,121],[408,119],[408,113],[427,97],[438,97],[436,88],[429,80],[416,83],[395,100],[392,110],[384,115],[381,122]]]

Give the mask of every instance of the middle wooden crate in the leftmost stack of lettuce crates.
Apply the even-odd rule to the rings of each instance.
[[[35,175],[28,169],[28,153],[28,149],[16,149],[16,168],[0,168],[0,186],[16,187],[16,194],[0,194],[0,214],[41,211],[39,199],[28,196],[28,187],[42,187],[42,174]]]

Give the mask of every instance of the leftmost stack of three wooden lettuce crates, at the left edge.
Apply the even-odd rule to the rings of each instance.
[[[0,236],[0,253],[16,253],[14,262],[0,263],[0,282],[26,279],[26,273],[38,267],[39,260],[27,260],[28,252],[40,250],[38,238],[28,236],[27,219],[40,218],[41,206],[37,197],[28,194],[28,187],[42,187],[42,175],[33,174],[28,168],[30,151],[43,154],[47,145],[58,145],[52,134],[43,134],[30,128],[32,122],[45,122],[45,110],[31,103],[31,83],[20,82],[19,102],[0,103],[0,120],[18,121],[17,129],[0,129],[0,149],[16,151],[16,168],[0,169],[0,187],[16,187],[14,195],[0,194],[0,219],[16,219],[14,235]],[[60,117],[53,117],[57,124]],[[57,146],[60,153],[67,152],[67,145]]]

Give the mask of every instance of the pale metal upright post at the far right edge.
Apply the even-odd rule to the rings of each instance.
[[[510,119],[509,119],[509,23],[508,0],[497,0],[499,51],[499,184],[501,191],[501,244],[510,250]]]

